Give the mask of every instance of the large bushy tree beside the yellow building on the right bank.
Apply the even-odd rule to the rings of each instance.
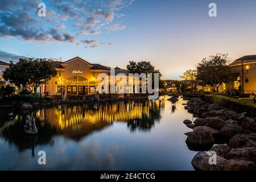
[[[212,92],[218,92],[223,83],[232,80],[229,62],[228,54],[217,53],[217,55],[204,58],[197,67],[197,80],[203,86],[209,86]]]

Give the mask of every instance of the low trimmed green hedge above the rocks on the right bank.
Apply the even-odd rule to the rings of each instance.
[[[256,117],[256,105],[249,104],[235,98],[210,94],[210,95],[205,95],[203,97],[203,100],[211,104],[213,103],[220,104],[221,106],[226,107],[230,110],[236,111],[237,113],[246,112],[247,115],[251,117]]]

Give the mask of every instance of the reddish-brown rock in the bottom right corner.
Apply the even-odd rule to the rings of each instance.
[[[256,165],[248,160],[230,159],[224,169],[225,171],[256,171]]]

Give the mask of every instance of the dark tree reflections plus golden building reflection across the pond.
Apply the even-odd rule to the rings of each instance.
[[[110,126],[114,121],[127,122],[131,132],[150,131],[160,119],[160,107],[163,103],[154,102],[114,102],[95,105],[59,105],[40,108],[30,113],[16,113],[13,120],[4,118],[0,124],[0,134],[19,151],[34,148],[36,144],[52,144],[53,136],[60,134],[79,141],[94,131]],[[27,114],[36,113],[38,136],[24,134],[23,125]]]

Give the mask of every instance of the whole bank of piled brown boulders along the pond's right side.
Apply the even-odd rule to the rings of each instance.
[[[199,151],[192,165],[200,171],[256,171],[256,122],[217,104],[192,98],[185,106],[198,118],[186,119],[184,124],[193,129],[185,133],[190,150]],[[216,163],[210,164],[207,152],[216,152]]]

